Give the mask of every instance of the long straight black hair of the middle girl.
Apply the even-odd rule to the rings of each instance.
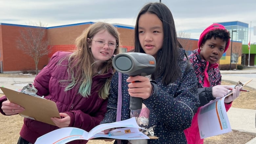
[[[139,43],[139,17],[146,13],[156,14],[163,24],[163,45],[158,51],[156,71],[151,75],[154,80],[163,76],[162,82],[168,85],[179,77],[180,68],[178,66],[178,47],[181,44],[177,40],[176,29],[171,11],[162,3],[148,3],[139,12],[135,25],[135,52],[143,51]]]

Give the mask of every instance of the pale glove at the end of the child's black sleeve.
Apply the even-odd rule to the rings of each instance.
[[[213,97],[224,97],[228,93],[228,89],[233,89],[233,87],[228,85],[217,85],[212,87],[212,96]]]

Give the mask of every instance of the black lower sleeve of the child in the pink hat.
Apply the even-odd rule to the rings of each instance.
[[[200,107],[215,99],[215,97],[212,96],[212,87],[199,88],[198,94],[200,100]]]

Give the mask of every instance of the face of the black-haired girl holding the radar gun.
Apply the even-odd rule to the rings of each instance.
[[[156,14],[144,13],[138,21],[139,43],[145,53],[157,58],[163,45],[163,24]]]

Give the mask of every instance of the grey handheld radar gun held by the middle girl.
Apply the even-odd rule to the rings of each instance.
[[[117,54],[112,60],[113,67],[117,72],[129,76],[146,76],[156,69],[154,56],[140,52],[126,52]],[[130,110],[142,108],[142,98],[130,96]]]

